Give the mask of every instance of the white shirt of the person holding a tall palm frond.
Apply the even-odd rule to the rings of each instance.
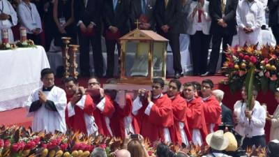
[[[266,110],[259,102],[255,102],[252,109],[252,118],[249,120],[245,116],[246,104],[241,107],[239,124],[245,128],[244,134],[246,137],[264,135],[264,126],[266,124]]]

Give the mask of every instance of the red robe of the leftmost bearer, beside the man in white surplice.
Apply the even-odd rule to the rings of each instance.
[[[67,96],[67,103],[70,102],[73,96]],[[68,105],[66,107],[66,124],[67,127],[74,131],[80,131],[82,133],[87,134],[86,130],[86,122],[84,119],[84,114],[89,114],[90,116],[93,116],[93,112],[96,109],[95,104],[93,103],[93,99],[91,96],[86,95],[86,99],[84,102],[84,109],[82,110],[80,107],[75,105],[75,115],[72,117],[68,117]]]

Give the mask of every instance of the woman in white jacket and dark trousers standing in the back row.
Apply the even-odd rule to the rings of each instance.
[[[206,73],[209,43],[211,40],[209,35],[211,25],[209,1],[192,1],[187,20],[187,33],[190,35],[190,47],[193,55],[193,74],[200,75]]]

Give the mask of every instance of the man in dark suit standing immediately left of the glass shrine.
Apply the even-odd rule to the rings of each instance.
[[[105,43],[107,46],[107,77],[114,74],[114,50],[117,45],[120,55],[119,38],[130,30],[129,20],[130,0],[105,0],[103,22],[105,26]]]

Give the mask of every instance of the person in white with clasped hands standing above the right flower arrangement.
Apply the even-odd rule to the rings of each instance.
[[[236,22],[239,26],[239,45],[262,43],[261,27],[264,7],[258,0],[242,0],[236,9]]]

